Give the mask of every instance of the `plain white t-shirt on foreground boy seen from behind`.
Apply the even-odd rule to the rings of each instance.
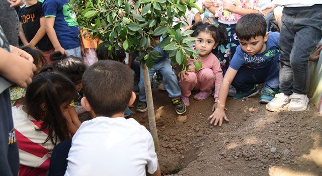
[[[146,175],[157,169],[151,134],[134,119],[97,117],[72,138],[65,175]]]

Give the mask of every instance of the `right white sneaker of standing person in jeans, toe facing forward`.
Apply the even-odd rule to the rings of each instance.
[[[293,93],[290,95],[290,106],[289,111],[305,111],[308,105],[308,98],[305,94]]]

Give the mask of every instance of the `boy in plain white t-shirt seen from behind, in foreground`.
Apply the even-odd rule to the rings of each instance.
[[[97,117],[83,122],[73,136],[65,175],[160,175],[151,134],[124,118],[135,100],[133,80],[130,69],[112,60],[85,71],[81,103]]]

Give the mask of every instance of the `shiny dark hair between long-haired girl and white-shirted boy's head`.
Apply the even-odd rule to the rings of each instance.
[[[56,51],[50,55],[50,60],[54,70],[65,74],[75,85],[82,81],[86,65],[81,58]]]

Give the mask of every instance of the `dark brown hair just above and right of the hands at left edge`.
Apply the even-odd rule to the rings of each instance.
[[[20,49],[26,51],[34,58],[34,64],[36,65],[37,70],[41,70],[44,65],[48,64],[44,53],[40,49],[30,46],[22,46]],[[41,65],[41,67],[39,67],[39,65]]]

